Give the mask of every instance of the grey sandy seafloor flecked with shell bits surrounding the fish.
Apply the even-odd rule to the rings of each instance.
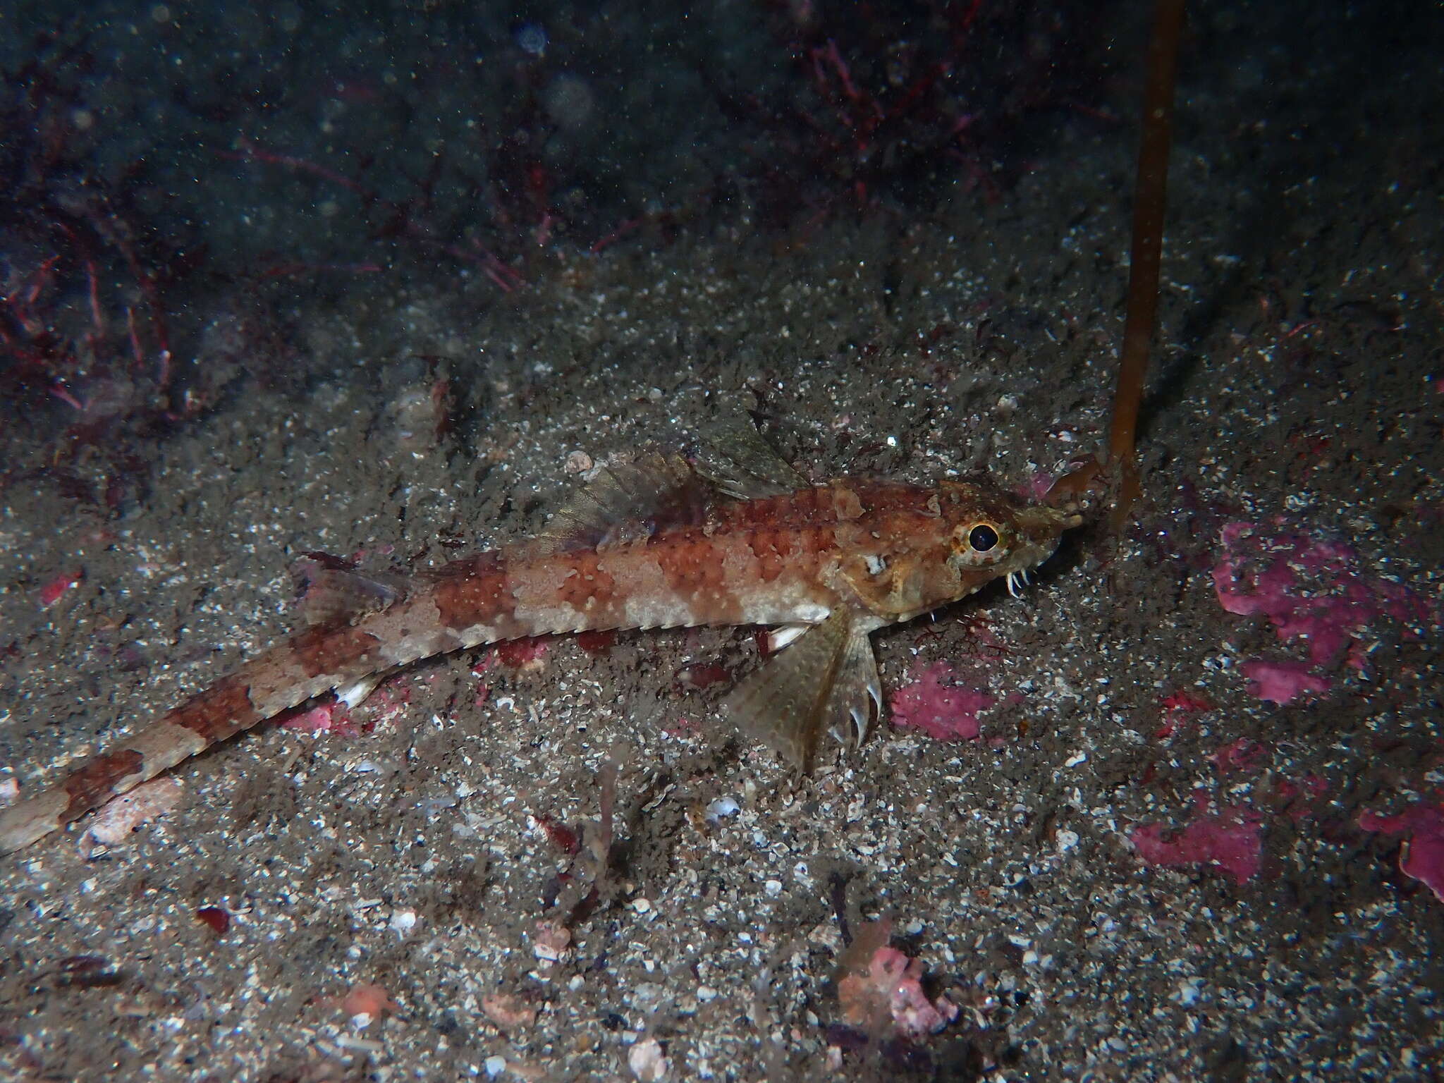
[[[794,781],[719,728],[731,677],[687,687],[754,664],[742,630],[413,666],[367,732],[263,726],[129,838],[0,859],[0,1077],[1437,1077],[1444,901],[1401,868],[1444,848],[1437,53],[1406,23],[1388,59],[1346,26],[1323,55],[1226,26],[1186,59],[1136,526],[875,637],[890,693],[989,693],[978,739],[882,725]],[[193,297],[186,348],[227,390],[137,440],[146,484],[0,498],[0,770],[29,793],[299,627],[305,552],[380,570],[524,537],[582,455],[738,410],[816,479],[1057,474],[1106,425],[1132,146],[1058,121],[992,196],[570,251],[510,295],[302,280],[282,374],[224,290]],[[445,358],[438,439],[413,355]],[[7,455],[51,440],[12,419]],[[1281,619],[1353,598],[1308,625],[1340,654],[1310,669],[1226,611],[1230,553],[1245,593],[1285,557]],[[1256,660],[1321,690],[1261,699]],[[605,762],[614,868],[543,959],[539,921],[596,877]],[[960,1009],[910,1045],[842,1028],[845,936],[884,917]],[[393,1009],[349,1019],[358,985]]]

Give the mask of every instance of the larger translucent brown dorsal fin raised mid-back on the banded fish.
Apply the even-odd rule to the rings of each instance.
[[[658,530],[702,526],[718,492],[682,455],[645,452],[604,464],[537,536],[542,553],[606,549]]]

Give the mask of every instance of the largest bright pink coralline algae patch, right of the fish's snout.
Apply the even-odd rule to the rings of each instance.
[[[1406,638],[1418,638],[1409,625],[1438,619],[1406,586],[1363,573],[1350,546],[1289,531],[1279,521],[1275,529],[1229,523],[1213,569],[1219,605],[1240,617],[1266,617],[1282,643],[1308,644],[1304,661],[1243,663],[1249,692],[1259,699],[1282,705],[1323,695],[1340,658],[1362,670],[1360,634],[1380,618],[1404,624]]]

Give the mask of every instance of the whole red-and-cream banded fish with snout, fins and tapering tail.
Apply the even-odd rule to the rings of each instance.
[[[745,423],[693,459],[618,459],[526,542],[409,578],[310,560],[310,627],[0,810],[0,852],[308,700],[357,706],[422,658],[536,635],[771,627],[775,653],[722,713],[806,773],[825,732],[856,748],[882,718],[874,631],[996,579],[1017,593],[1084,510],[1073,495],[1028,503],[986,481],[813,484]]]

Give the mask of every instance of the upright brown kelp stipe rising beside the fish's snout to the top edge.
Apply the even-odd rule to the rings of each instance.
[[[1138,179],[1134,191],[1132,269],[1128,280],[1128,315],[1113,386],[1113,425],[1108,455],[1064,475],[1053,487],[1056,497],[1077,494],[1109,475],[1115,497],[1109,521],[1118,531],[1139,495],[1134,442],[1138,407],[1148,371],[1148,345],[1158,313],[1158,267],[1162,253],[1164,212],[1168,206],[1168,153],[1173,149],[1174,84],[1178,72],[1178,38],[1184,0],[1158,0],[1154,33],[1148,42],[1148,81],[1144,90],[1142,137],[1138,146]]]

